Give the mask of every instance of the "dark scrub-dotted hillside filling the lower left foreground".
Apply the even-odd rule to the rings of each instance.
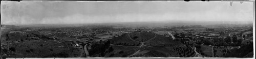
[[[11,31],[1,41],[3,57],[85,57],[73,41],[53,40],[37,31]]]

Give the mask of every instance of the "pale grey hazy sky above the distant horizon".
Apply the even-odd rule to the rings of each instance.
[[[72,24],[134,21],[252,21],[253,3],[184,1],[1,2],[1,24]]]

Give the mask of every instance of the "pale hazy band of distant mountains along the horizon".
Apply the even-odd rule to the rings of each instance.
[[[181,26],[181,25],[219,25],[219,24],[252,24],[253,21],[146,21],[146,22],[113,22],[113,23],[77,23],[77,24],[26,24],[23,27],[78,27],[84,25],[124,25],[124,26]],[[6,25],[4,25],[6,26]],[[7,25],[14,27],[15,25]],[[2,25],[1,25],[2,27]]]

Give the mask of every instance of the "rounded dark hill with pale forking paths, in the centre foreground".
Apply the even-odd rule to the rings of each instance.
[[[92,57],[194,57],[193,48],[155,33],[134,32],[109,39],[110,46]],[[137,44],[136,44],[137,43]],[[102,46],[94,43],[94,47]],[[96,48],[95,48],[96,49]],[[92,49],[94,50],[94,49]]]

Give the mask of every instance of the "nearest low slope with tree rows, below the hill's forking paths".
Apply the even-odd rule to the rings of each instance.
[[[179,52],[178,52],[179,51]],[[141,50],[131,57],[193,57],[195,52],[186,45],[154,46]]]

